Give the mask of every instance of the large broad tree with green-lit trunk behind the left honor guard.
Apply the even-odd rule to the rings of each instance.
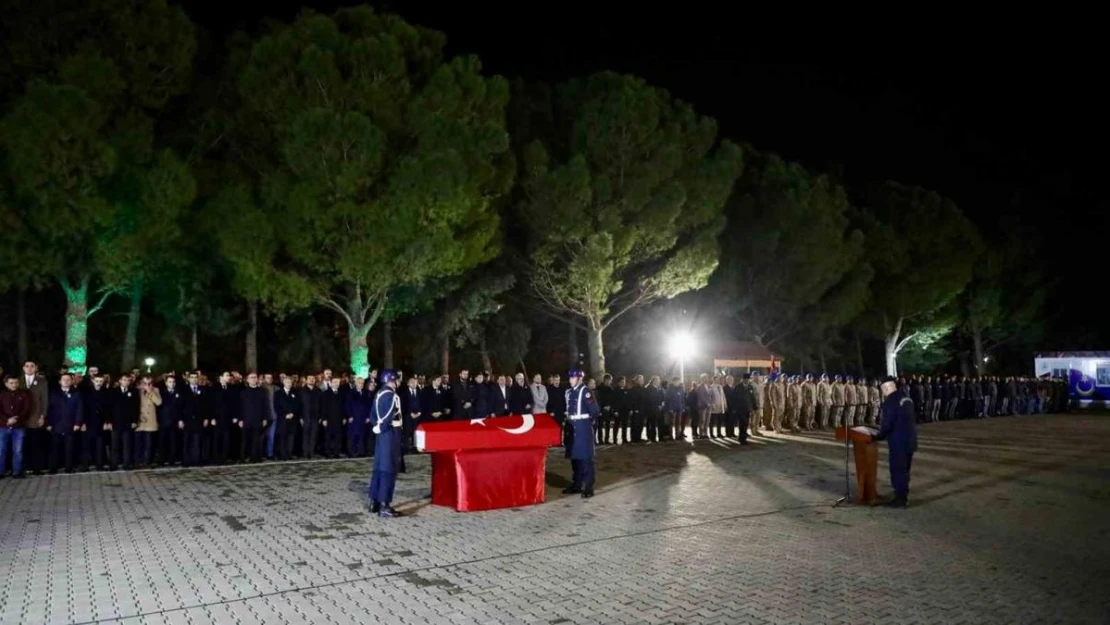
[[[246,154],[278,242],[268,275],[248,272],[252,295],[340,314],[359,372],[394,292],[497,253],[508,90],[443,46],[366,7],[305,12],[258,41],[239,74],[234,140],[246,148],[232,153]]]

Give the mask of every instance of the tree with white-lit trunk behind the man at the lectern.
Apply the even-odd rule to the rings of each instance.
[[[885,341],[887,374],[896,375],[898,353],[937,332],[938,313],[971,279],[981,243],[959,208],[932,191],[887,182],[870,200],[861,218],[875,269],[869,324]]]

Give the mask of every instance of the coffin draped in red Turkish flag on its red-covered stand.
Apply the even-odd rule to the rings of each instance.
[[[432,454],[432,503],[458,512],[544,503],[547,447],[561,434],[547,414],[417,425],[416,450]]]

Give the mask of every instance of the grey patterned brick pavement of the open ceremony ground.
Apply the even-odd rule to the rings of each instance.
[[[397,520],[366,461],[4,480],[0,624],[1110,622],[1110,417],[919,437],[906,511],[831,507],[827,432],[603,448],[589,501],[553,452],[546,504],[473,514],[410,457]]]

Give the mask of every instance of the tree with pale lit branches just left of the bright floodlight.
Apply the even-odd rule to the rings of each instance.
[[[713,120],[633,77],[571,81],[548,108],[551,124],[526,128],[553,130],[521,158],[527,278],[548,312],[585,330],[601,375],[616,319],[706,284],[741,155]]]

